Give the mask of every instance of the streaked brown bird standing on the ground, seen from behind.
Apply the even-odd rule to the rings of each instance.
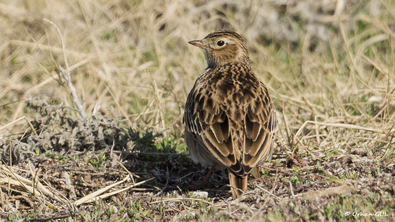
[[[276,109],[239,34],[222,29],[188,43],[203,50],[207,68],[187,97],[185,143],[195,162],[228,169],[236,199],[247,190],[251,170],[272,156]]]

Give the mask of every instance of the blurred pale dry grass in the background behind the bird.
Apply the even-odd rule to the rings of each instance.
[[[32,97],[76,109],[56,72],[65,68],[61,39],[45,18],[63,36],[88,117],[97,111],[136,130],[182,138],[185,100],[206,66],[187,42],[225,28],[244,38],[252,68],[269,88],[278,135],[295,133],[306,120],[386,130],[394,122],[394,6],[394,0],[1,0],[0,126],[33,117],[24,103]],[[23,133],[25,123],[2,129],[0,140]],[[317,142],[326,132],[314,132]]]

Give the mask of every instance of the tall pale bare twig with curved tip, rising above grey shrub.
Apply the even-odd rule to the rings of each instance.
[[[69,63],[67,62],[66,49],[65,49],[65,44],[64,44],[64,41],[63,41],[62,34],[60,33],[60,30],[59,30],[58,26],[55,25],[55,23],[53,23],[52,21],[49,21],[48,19],[45,19],[45,18],[44,18],[44,21],[51,23],[56,28],[56,30],[58,31],[58,34],[60,36],[60,41],[62,43],[63,57],[64,57],[65,64],[66,64],[66,71],[61,66],[59,66],[59,71],[62,73],[62,76],[65,79],[65,81],[67,83],[67,86],[70,89],[70,92],[71,92],[71,94],[73,96],[73,101],[74,101],[74,103],[76,104],[76,106],[77,106],[77,108],[79,110],[79,115],[81,117],[83,117],[83,118],[86,118],[85,112],[83,111],[82,104],[79,101],[79,98],[78,98],[78,95],[77,95],[76,87],[74,87],[74,85],[73,85],[73,83],[71,81]],[[65,74],[67,74],[67,78],[65,77]]]

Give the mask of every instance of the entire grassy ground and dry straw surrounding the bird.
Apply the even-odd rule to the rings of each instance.
[[[0,3],[0,222],[395,221],[394,12],[375,0]],[[187,42],[221,28],[244,37],[280,120],[273,158],[236,200],[226,171],[201,184],[208,169],[183,141],[205,67]]]

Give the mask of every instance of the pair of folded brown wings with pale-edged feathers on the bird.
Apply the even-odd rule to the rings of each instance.
[[[242,158],[235,151],[229,117],[213,100],[204,81],[197,79],[185,105],[186,130],[195,133],[198,140],[222,164],[241,177],[245,177],[252,167],[269,156],[273,133],[277,128],[276,111],[266,87],[260,84],[260,93],[248,106],[244,118]]]

